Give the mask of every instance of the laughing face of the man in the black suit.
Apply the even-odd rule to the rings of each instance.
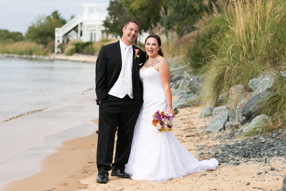
[[[133,44],[135,39],[137,38],[139,27],[135,23],[130,22],[126,28],[123,27],[123,36],[122,41],[126,44]]]

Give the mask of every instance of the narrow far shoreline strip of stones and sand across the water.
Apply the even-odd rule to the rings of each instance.
[[[74,54],[72,56],[66,56],[65,54],[50,54],[49,56],[36,56],[36,55],[18,55],[18,54],[0,54],[0,58],[22,58],[28,60],[43,60],[43,61],[74,61],[74,62],[96,62],[97,56]]]

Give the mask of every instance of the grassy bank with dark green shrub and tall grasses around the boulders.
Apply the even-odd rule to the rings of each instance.
[[[262,72],[277,74],[275,92],[266,98],[258,114],[270,120],[245,135],[261,135],[268,130],[286,128],[286,2],[283,0],[227,0],[213,5],[213,16],[199,22],[199,30],[189,45],[190,68],[204,74],[201,96],[205,104],[219,105],[219,95],[238,84],[252,91],[249,80]],[[226,100],[235,106],[238,100]]]

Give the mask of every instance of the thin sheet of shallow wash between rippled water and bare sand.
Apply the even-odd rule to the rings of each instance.
[[[43,137],[41,145],[17,153],[2,163],[0,190],[5,190],[5,187],[10,184],[14,185],[17,180],[29,178],[43,171],[42,161],[45,161],[50,155],[58,153],[57,149],[62,147],[63,142],[95,133],[98,126],[94,121],[96,120],[84,122],[55,135]],[[7,190],[11,190],[10,186],[8,187]]]

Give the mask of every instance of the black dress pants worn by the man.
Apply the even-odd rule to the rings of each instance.
[[[109,174],[111,169],[125,169],[138,115],[139,109],[135,106],[134,99],[127,94],[122,99],[107,94],[107,98],[100,102],[96,155],[98,174]],[[117,127],[116,150],[111,166]]]

